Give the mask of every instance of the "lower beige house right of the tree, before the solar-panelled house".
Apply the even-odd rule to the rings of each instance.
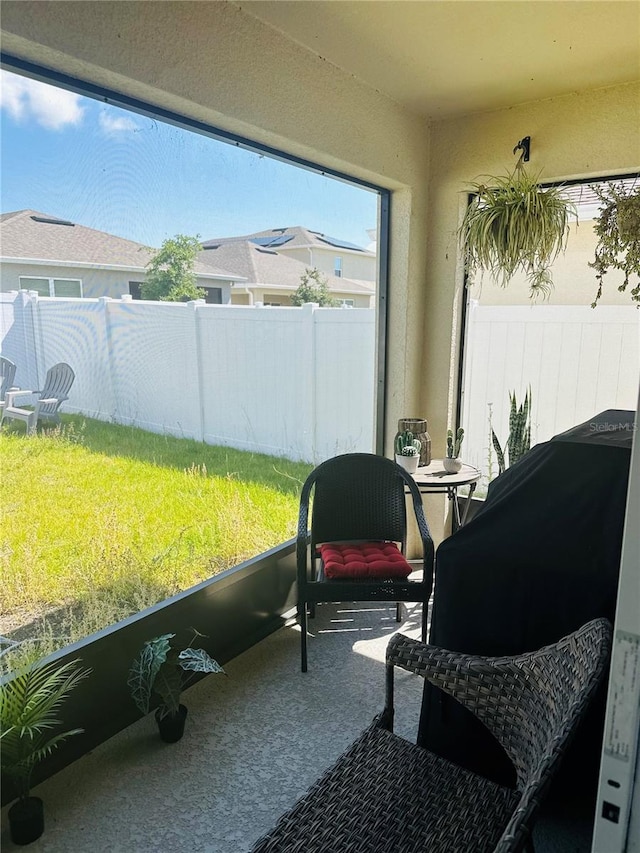
[[[250,240],[207,240],[198,261],[214,267],[231,269],[246,281],[231,288],[234,305],[291,305],[291,297],[299,287],[309,263],[287,257],[274,248],[256,245]],[[374,305],[375,286],[370,281],[353,281],[324,273],[331,296],[340,304],[354,308]]]

